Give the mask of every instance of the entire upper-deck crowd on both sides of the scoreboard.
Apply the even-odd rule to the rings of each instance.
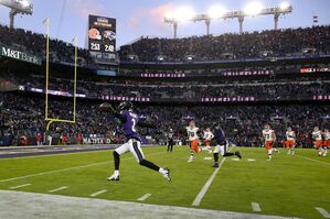
[[[330,26],[268,30],[244,34],[192,36],[184,39],[141,37],[131,45],[121,46],[121,61],[135,55],[141,62],[219,61],[258,58],[265,56],[321,55],[330,53]],[[45,35],[0,24],[0,44],[44,57]],[[51,62],[74,63],[74,46],[57,39],[50,41]],[[93,65],[89,52],[78,50],[78,65]]]

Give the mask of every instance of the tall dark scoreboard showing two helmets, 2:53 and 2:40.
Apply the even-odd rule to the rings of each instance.
[[[116,53],[116,19],[89,15],[88,50],[96,53]]]

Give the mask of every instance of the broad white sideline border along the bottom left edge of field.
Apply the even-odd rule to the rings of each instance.
[[[285,219],[245,212],[231,212],[183,208],[174,206],[146,205],[96,198],[77,198],[62,195],[0,190],[0,218],[49,219],[55,218],[171,218],[171,219]],[[128,210],[129,209],[129,210]],[[79,213],[81,212],[81,213]],[[78,213],[78,215],[77,215]],[[292,218],[292,217],[289,217]],[[288,218],[286,218],[288,219]]]

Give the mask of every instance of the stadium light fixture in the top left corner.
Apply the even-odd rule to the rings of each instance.
[[[10,28],[14,25],[14,17],[19,13],[30,14],[33,13],[33,4],[30,0],[0,0],[0,4],[10,8],[9,19]]]

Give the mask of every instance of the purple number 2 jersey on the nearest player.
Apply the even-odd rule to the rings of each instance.
[[[123,110],[120,114],[123,114],[126,118],[126,122],[123,122],[126,141],[129,141],[130,139],[141,141],[136,130],[136,125],[140,120],[139,116],[128,110]]]

